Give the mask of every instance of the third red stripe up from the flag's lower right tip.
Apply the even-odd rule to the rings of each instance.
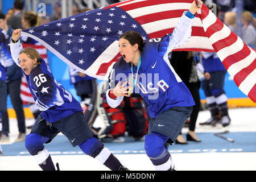
[[[243,44],[243,48],[241,49],[241,51],[238,51],[237,53],[234,53],[233,55],[230,55],[228,57],[226,57],[223,61],[222,64],[224,65],[224,67],[226,68],[226,70],[229,69],[229,67],[234,64],[237,63],[240,60],[245,59],[245,57],[249,56],[251,53],[251,50],[249,49],[249,47],[244,43]]]

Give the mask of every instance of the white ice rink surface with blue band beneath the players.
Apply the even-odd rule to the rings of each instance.
[[[210,117],[209,111],[200,111],[196,133],[201,143],[189,142],[187,145],[173,144],[168,148],[177,171],[255,171],[256,170],[256,108],[229,109],[232,119],[225,129],[200,126],[199,123]],[[101,121],[97,119],[98,125]],[[27,120],[29,126],[32,120]],[[96,123],[96,124],[97,124]],[[228,130],[223,136],[231,138],[228,142],[214,134]],[[183,128],[185,134],[188,129]],[[27,134],[30,130],[27,130]],[[40,171],[40,167],[24,147],[24,142],[14,143],[18,135],[15,119],[10,119],[10,143],[1,143],[0,171]],[[123,143],[104,142],[121,163],[133,171],[154,171],[150,159],[144,152],[144,142],[125,138]],[[61,171],[108,171],[96,159],[84,155],[79,147],[73,148],[64,135],[57,137],[45,147],[54,163],[59,163]]]

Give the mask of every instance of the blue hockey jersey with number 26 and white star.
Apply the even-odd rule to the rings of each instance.
[[[20,42],[11,43],[11,54],[18,66],[21,50]],[[40,65],[32,69],[30,75],[26,75],[24,72],[23,74],[36,106],[42,111],[41,115],[46,121],[52,123],[77,111],[82,111],[80,103],[55,80],[43,59]]]

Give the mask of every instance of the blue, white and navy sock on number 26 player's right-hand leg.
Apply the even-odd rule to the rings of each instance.
[[[85,154],[97,159],[112,171],[118,171],[122,167],[122,164],[115,158],[108,148],[104,147],[104,145],[94,137],[79,144],[79,147]]]

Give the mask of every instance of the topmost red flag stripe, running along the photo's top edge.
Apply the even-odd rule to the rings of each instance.
[[[160,5],[160,4],[166,4],[166,3],[192,3],[193,0],[180,0],[179,2],[175,0],[151,0],[151,1],[141,1],[137,3],[131,3],[129,5],[123,5],[120,6],[120,8],[124,11],[129,11],[133,9],[138,9],[140,7],[146,7],[146,6],[154,6],[154,5]]]

